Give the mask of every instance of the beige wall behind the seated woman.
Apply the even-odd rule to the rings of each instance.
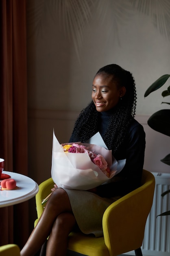
[[[140,122],[144,120],[146,130],[144,167],[168,171],[169,166],[159,159],[169,153],[169,138],[147,126],[153,112],[168,108],[161,104],[161,91],[166,85],[144,99],[148,86],[170,73],[170,40],[159,26],[155,27],[153,18],[154,12],[163,15],[168,11],[164,0],[159,1],[159,9],[151,4],[154,1],[142,1],[151,4],[147,14],[130,0],[94,1],[89,22],[74,34],[70,24],[69,32],[64,33],[64,16],[60,22],[58,18],[59,2],[27,1],[29,175],[38,183],[50,176],[53,128],[59,141],[68,141],[78,113],[91,100],[94,74],[109,63],[121,65],[135,77],[136,114]],[[71,5],[67,11],[71,12]]]

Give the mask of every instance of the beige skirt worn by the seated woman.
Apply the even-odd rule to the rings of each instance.
[[[79,229],[84,234],[103,236],[102,216],[107,207],[118,200],[115,198],[101,198],[100,196],[83,190],[65,189]]]

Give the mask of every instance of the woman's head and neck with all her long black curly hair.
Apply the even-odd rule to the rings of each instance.
[[[89,132],[92,137],[99,130],[110,148],[113,144],[117,148],[135,116],[136,99],[135,81],[129,71],[116,64],[100,68],[92,85],[93,101],[76,121],[72,141],[85,142]],[[105,124],[107,127],[103,130]],[[109,129],[112,129],[111,134]]]

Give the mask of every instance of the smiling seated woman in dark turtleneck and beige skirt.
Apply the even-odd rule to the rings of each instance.
[[[94,77],[92,101],[79,115],[69,142],[85,143],[100,132],[115,159],[126,159],[124,168],[92,190],[55,184],[21,256],[34,255],[48,236],[46,255],[64,256],[68,235],[77,228],[84,234],[103,236],[102,216],[107,207],[141,185],[145,132],[134,119],[135,106],[132,74],[116,64],[102,67]]]

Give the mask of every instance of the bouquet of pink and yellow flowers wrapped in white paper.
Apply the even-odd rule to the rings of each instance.
[[[59,144],[53,132],[51,177],[65,189],[93,189],[120,172],[111,150],[80,142]]]

